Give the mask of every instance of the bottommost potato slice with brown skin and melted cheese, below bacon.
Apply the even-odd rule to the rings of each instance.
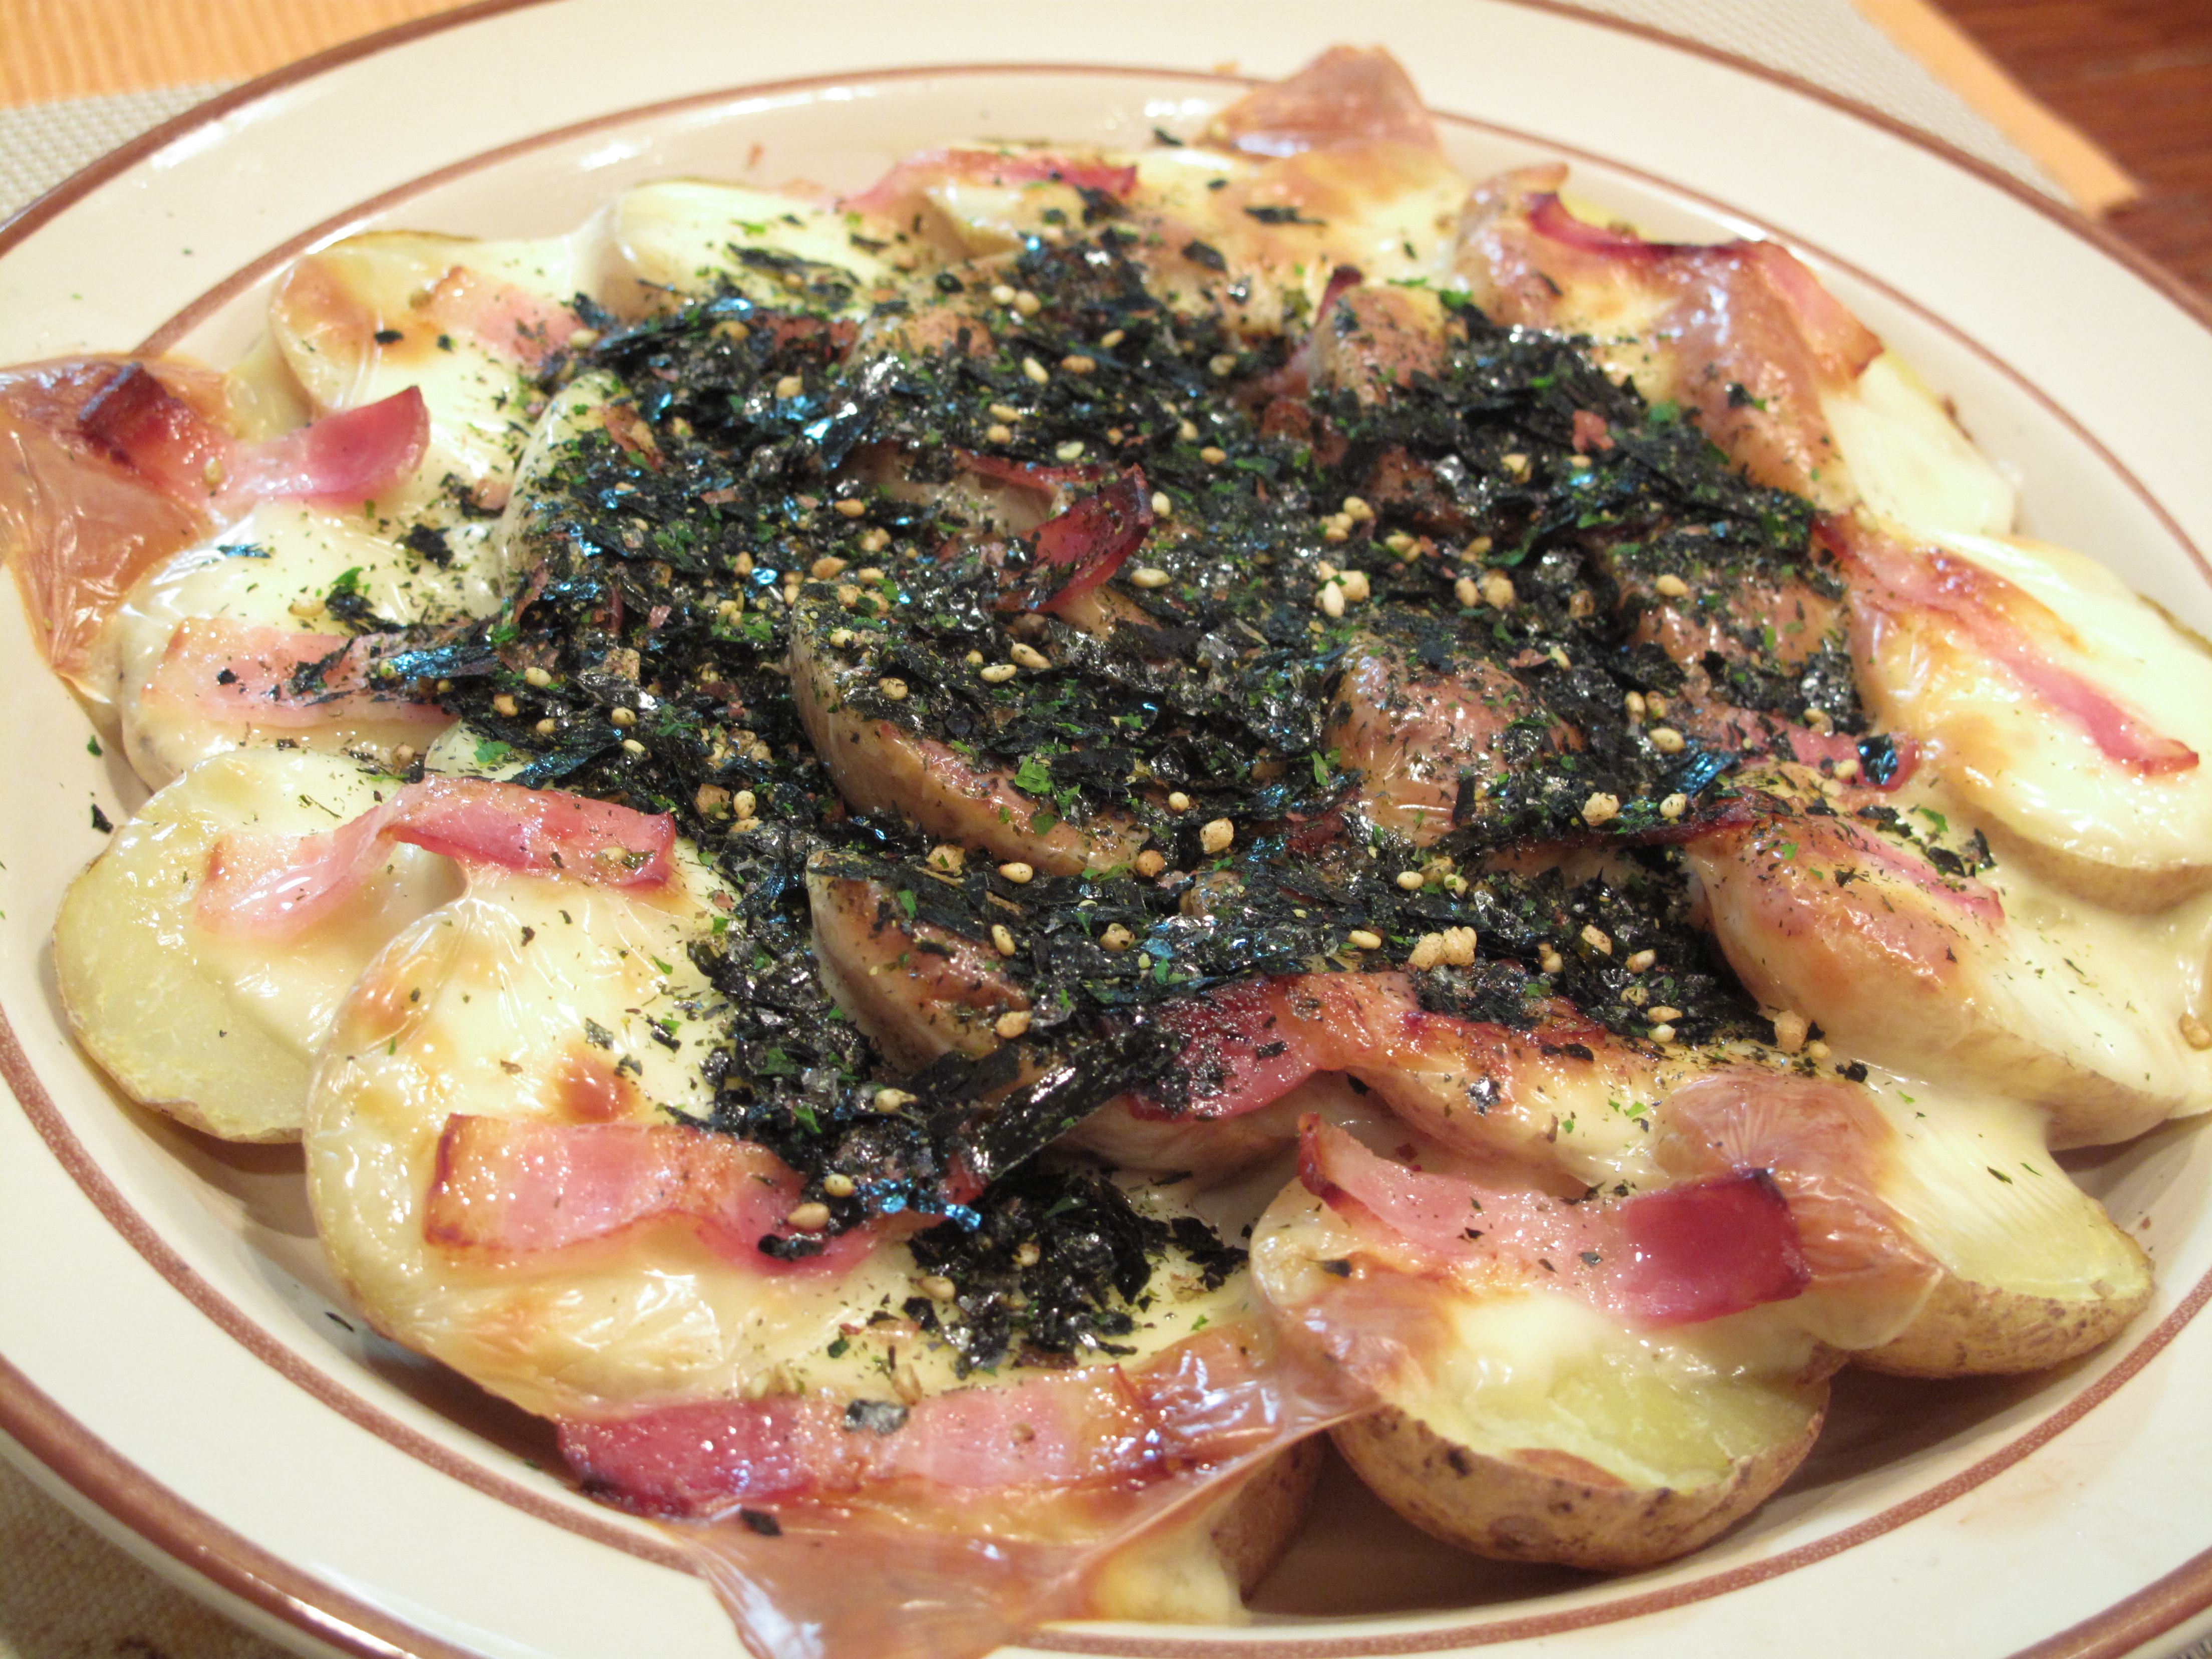
[[[1349,1365],[1400,1347],[1371,1376],[1383,1409],[1332,1433],[1378,1498],[1478,1555],[1626,1571],[1692,1551],[1796,1469],[1827,1407],[1832,1356],[1785,1314],[1630,1332],[1526,1283],[1416,1283],[1303,1186],[1252,1267],[1290,1318],[1363,1345]]]

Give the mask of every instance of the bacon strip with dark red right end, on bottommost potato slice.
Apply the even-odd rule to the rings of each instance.
[[[1513,1261],[1641,1329],[1694,1325],[1803,1294],[1812,1281],[1790,1203],[1765,1170],[1566,1206],[1409,1170],[1307,1117],[1298,1179],[1442,1263]]]

